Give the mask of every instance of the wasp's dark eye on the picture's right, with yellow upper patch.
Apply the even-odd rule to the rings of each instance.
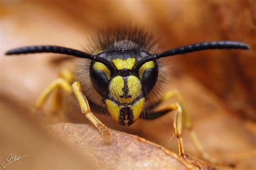
[[[139,76],[142,79],[142,84],[146,93],[149,93],[157,83],[158,67],[157,63],[150,61],[143,64],[139,69]]]

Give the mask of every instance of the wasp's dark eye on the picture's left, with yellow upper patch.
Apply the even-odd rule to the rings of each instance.
[[[107,88],[109,85],[109,78],[110,78],[110,71],[107,69],[107,67],[104,64],[96,62],[95,64],[91,65],[90,79],[91,79],[92,86],[102,97],[107,92]]]

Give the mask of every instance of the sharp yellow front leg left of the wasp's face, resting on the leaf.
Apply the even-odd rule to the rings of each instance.
[[[91,121],[91,123],[99,130],[103,135],[104,140],[108,143],[110,140],[110,130],[107,128],[99,119],[92,114],[88,101],[81,89],[80,84],[76,81],[72,84],[73,91],[78,100],[79,106],[82,110],[82,113],[85,114],[86,118]]]

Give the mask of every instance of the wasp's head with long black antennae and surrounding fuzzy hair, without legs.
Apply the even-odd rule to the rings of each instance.
[[[91,63],[82,63],[77,69],[75,87],[80,81],[86,98],[92,104],[107,109],[114,120],[127,126],[140,117],[145,105],[152,107],[161,101],[156,98],[163,96],[166,78],[164,65],[158,59],[200,50],[249,48],[240,42],[214,41],[154,53],[156,43],[152,35],[142,30],[118,29],[102,32],[93,38],[89,50],[91,54],[67,47],[43,45],[19,47],[7,51],[6,55],[52,52],[91,60]],[[88,66],[90,81],[87,80]],[[149,95],[151,91],[154,94]],[[77,93],[82,100],[79,95]]]

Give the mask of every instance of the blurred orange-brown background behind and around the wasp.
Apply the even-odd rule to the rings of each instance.
[[[87,37],[116,24],[139,25],[153,32],[159,37],[159,51],[210,40],[237,40],[251,46],[247,51],[202,51],[164,61],[171,66],[170,89],[178,89],[184,95],[205,149],[220,159],[237,161],[238,169],[255,168],[255,157],[251,157],[255,151],[256,120],[256,4],[253,0],[1,1],[0,97],[2,105],[7,107],[1,114],[9,110],[18,120],[35,121],[29,117],[28,109],[38,95],[60,70],[75,69],[74,60],[52,62],[63,58],[60,55],[4,57],[6,50],[39,44],[83,50]],[[17,113],[23,118],[16,116]],[[177,151],[176,139],[169,140],[173,131],[172,114],[154,121],[139,120],[129,128],[119,127],[111,118],[98,117],[114,129]],[[4,119],[1,121],[4,131],[5,125],[10,125]],[[196,155],[184,131],[185,149]],[[13,146],[3,133],[1,138],[1,149],[6,144]],[[3,151],[1,159],[9,152]],[[248,151],[250,154],[246,154]]]

